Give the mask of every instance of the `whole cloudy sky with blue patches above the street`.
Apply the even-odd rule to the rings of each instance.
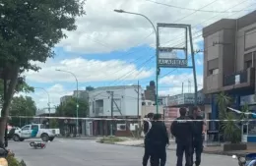
[[[88,0],[87,15],[77,19],[76,31],[67,32],[55,48],[56,56],[42,69],[26,73],[32,86],[45,88],[52,105],[62,95],[76,88],[75,79],[56,69],[73,72],[79,89],[86,86],[135,84],[146,86],[155,80],[156,37],[152,26],[140,16],[119,14],[114,9],[144,14],[154,25],[158,23],[192,26],[195,50],[203,50],[202,28],[222,18],[238,18],[255,9],[254,0]],[[184,46],[184,33],[174,28],[160,28],[161,46]],[[203,84],[203,53],[196,54],[199,89]],[[191,57],[188,57],[191,60]],[[189,62],[189,64],[191,64]],[[189,82],[190,86],[189,87]],[[191,69],[162,69],[160,94],[193,92]],[[36,88],[31,95],[39,108],[46,107],[47,95]]]

